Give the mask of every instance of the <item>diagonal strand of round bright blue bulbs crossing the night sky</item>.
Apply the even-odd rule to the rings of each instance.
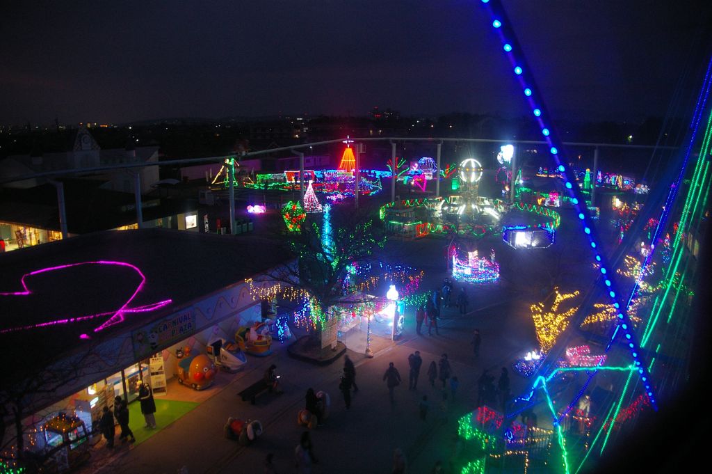
[[[498,7],[497,12],[494,11],[493,3],[497,3],[497,7]],[[516,40],[513,30],[511,29],[511,27],[508,27],[509,21],[508,21],[508,17],[506,16],[506,13],[503,9],[503,6],[501,6],[501,4],[499,4],[499,2],[491,2],[491,1],[483,2],[483,5],[486,7],[486,9],[488,9],[488,13],[491,16],[492,21],[497,20],[497,21],[501,22],[500,26],[496,27],[496,32],[499,35],[501,42],[503,44],[510,44],[510,45],[515,45],[515,46],[518,45],[518,41]],[[520,53],[520,51],[521,51],[520,48],[516,48],[516,49],[518,51],[519,57],[516,58],[515,57],[515,56],[517,56],[516,54],[510,53],[509,59],[513,64],[515,64],[514,73],[516,76],[518,76],[520,85],[523,88],[525,88],[525,87],[527,87],[527,86],[525,86],[525,78],[523,77],[523,73],[524,73],[525,69],[522,68],[522,66],[526,66],[526,61],[525,61],[523,53]],[[526,68],[526,69],[528,70],[528,68]],[[528,76],[528,78],[527,78],[526,83],[528,84],[528,87],[531,88],[532,90],[536,91],[537,87],[535,85],[535,81],[534,81],[533,77],[531,77],[528,74],[527,74],[527,76]],[[538,94],[538,96],[540,96],[540,95]],[[533,111],[534,115],[536,117],[538,117],[538,121],[539,121],[541,130],[542,130],[542,133],[543,133],[543,135],[545,135],[547,143],[550,145],[550,147],[557,148],[557,150],[563,150],[564,148],[562,146],[562,142],[558,138],[557,133],[555,133],[554,124],[553,123],[545,124],[543,119],[541,118],[541,115],[543,115],[542,114],[543,101],[541,101],[541,99],[540,99],[540,102],[541,102],[540,104],[535,104],[534,101],[528,101],[528,102],[529,102],[530,107],[533,108],[532,111]],[[548,126],[544,126],[544,125],[548,125]],[[573,182],[575,180],[571,179],[572,177],[571,177],[570,170],[567,169],[567,167],[565,166],[564,163],[561,163],[561,160],[560,160],[558,154],[552,153],[551,156],[554,159],[554,162],[559,166],[559,168],[564,168],[564,170],[561,172],[562,172],[562,177],[565,179],[566,188],[568,190],[568,193],[569,193],[570,197],[572,197],[573,199],[576,200],[575,206],[576,206],[577,210],[579,212],[583,212],[584,210],[581,209],[580,202],[585,202],[585,200],[583,199],[582,195],[579,196],[580,190],[578,189],[578,187],[577,186],[574,187],[571,185],[571,182]],[[582,222],[582,225],[585,229],[585,233],[587,234],[587,237],[589,237],[591,247],[593,249],[595,249],[597,247],[597,244],[596,244],[597,234],[595,232],[594,222],[592,221],[592,219],[590,218],[589,215],[585,215],[584,217],[585,218],[583,220],[580,220],[580,222]],[[598,262],[600,262],[601,273],[606,274],[607,273],[606,267],[609,266],[607,264],[607,259],[605,259],[604,257],[601,257],[600,255],[597,254],[596,260]],[[613,282],[612,282],[611,287],[609,287],[609,288],[611,288],[611,292],[609,292],[609,297],[611,297],[611,299],[613,300],[614,303],[617,303],[617,299],[615,296],[617,294],[617,292],[615,292],[615,286],[614,286]],[[620,322],[627,322],[627,323],[631,322],[631,321],[629,321],[629,317],[628,317],[626,311],[622,311],[619,313],[619,319],[622,320],[622,321],[619,321],[619,323]],[[617,333],[618,333],[618,331],[614,331],[614,336]],[[635,361],[636,365],[637,366],[642,365],[644,368],[646,368],[647,365],[642,364],[642,362],[643,362],[642,356],[640,356],[640,354],[638,354],[638,351],[636,351],[636,349],[635,349],[636,344],[633,341],[635,341],[635,339],[632,339],[632,341],[628,344],[629,348],[631,349],[631,351],[630,351],[631,355],[637,354],[637,357],[634,357],[634,361]],[[610,347],[610,344],[608,347]],[[644,371],[646,372],[647,369],[644,369]],[[647,378],[651,378],[649,373],[644,373],[644,376],[646,376]],[[646,390],[650,391],[651,394],[649,395],[649,398],[650,398],[651,406],[654,408],[655,411],[657,411],[657,403],[655,401],[654,396],[652,395],[652,389],[648,383],[646,383]]]

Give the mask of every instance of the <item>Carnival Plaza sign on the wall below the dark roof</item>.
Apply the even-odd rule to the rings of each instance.
[[[145,359],[164,348],[182,341],[195,330],[195,311],[193,308],[174,313],[164,319],[152,322],[133,331],[134,355],[136,359]]]

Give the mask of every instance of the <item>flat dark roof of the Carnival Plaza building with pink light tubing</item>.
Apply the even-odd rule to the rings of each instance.
[[[0,254],[0,292],[22,292],[24,274],[80,262],[113,261],[134,265],[145,275],[145,285],[129,307],[172,299],[162,309],[126,314],[126,320],[98,333],[103,324],[130,299],[141,283],[140,274],[127,266],[85,264],[25,279],[27,295],[0,295],[0,344],[23,347],[26,366],[45,363],[50,356],[80,349],[89,334],[95,342],[119,331],[170,314],[181,306],[231,284],[255,277],[290,256],[281,242],[264,237],[231,237],[178,230],[148,229],[96,232]],[[41,328],[7,331],[78,316],[106,316],[54,324]],[[32,361],[26,358],[34,359]]]

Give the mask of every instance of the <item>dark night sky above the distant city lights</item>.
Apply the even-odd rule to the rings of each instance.
[[[508,0],[559,118],[663,116],[697,0]],[[16,1],[0,18],[0,123],[523,115],[479,0]]]

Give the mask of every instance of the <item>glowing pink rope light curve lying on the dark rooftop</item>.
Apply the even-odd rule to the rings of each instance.
[[[172,299],[164,299],[161,302],[155,302],[152,304],[145,304],[143,306],[135,306],[133,308],[129,307],[129,304],[133,301],[133,299],[136,297],[138,292],[141,291],[143,288],[144,284],[146,283],[146,276],[141,272],[138,267],[135,265],[132,265],[127,262],[112,262],[112,261],[107,261],[107,260],[99,260],[98,262],[80,262],[80,263],[72,263],[72,264],[66,264],[66,265],[58,265],[57,267],[47,267],[43,268],[40,270],[35,270],[34,272],[26,273],[23,274],[20,282],[23,287],[23,291],[21,292],[0,292],[0,296],[28,296],[29,294],[32,294],[30,289],[27,287],[26,283],[26,278],[27,277],[32,277],[33,275],[37,274],[42,274],[46,272],[53,272],[54,270],[61,270],[61,269],[66,269],[69,267],[78,267],[80,265],[117,265],[120,267],[129,267],[130,269],[134,270],[137,274],[140,275],[141,277],[141,283],[138,285],[136,288],[135,292],[131,295],[127,301],[122,304],[122,306],[117,309],[116,311],[107,311],[103,313],[96,313],[96,314],[88,314],[85,316],[76,316],[73,318],[64,318],[64,319],[55,319],[53,321],[45,321],[42,323],[37,323],[37,324],[29,324],[26,326],[16,326],[13,328],[7,328],[7,329],[0,329],[0,334],[11,332],[11,331],[21,331],[25,329],[36,329],[36,328],[41,328],[41,327],[46,327],[46,326],[54,326],[56,324],[68,324],[68,323],[73,323],[73,322],[79,322],[79,321],[87,321],[89,319],[94,319],[94,318],[99,318],[102,316],[110,316],[110,318],[103,322],[103,324],[100,324],[100,326],[96,327],[94,329],[94,332],[101,331],[102,329],[106,329],[109,326],[113,326],[114,324],[118,324],[121,321],[124,320],[124,314],[126,313],[142,313],[142,312],[147,312],[147,311],[154,311],[156,309],[162,308],[163,306],[167,306],[170,304],[173,300]],[[80,336],[81,339],[88,339],[88,336],[86,334],[82,334]]]

